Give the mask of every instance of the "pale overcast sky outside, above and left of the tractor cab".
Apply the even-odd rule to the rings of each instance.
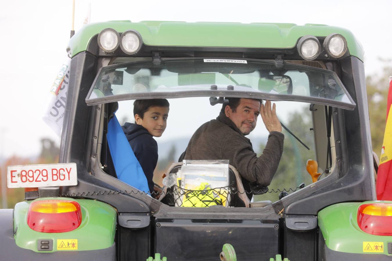
[[[91,22],[169,20],[211,22],[321,23],[349,29],[365,50],[365,72],[392,58],[392,1],[84,1],[76,0],[75,30],[91,3]],[[72,0],[3,1],[0,8],[2,120],[0,157],[29,157],[40,138],[58,140],[42,121],[47,97],[65,57]],[[387,79],[386,86],[387,88]]]

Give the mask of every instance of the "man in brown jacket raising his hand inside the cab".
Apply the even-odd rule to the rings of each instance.
[[[242,176],[245,191],[250,185],[268,186],[283,153],[284,135],[276,116],[275,104],[265,105],[258,99],[225,98],[215,120],[204,123],[196,130],[185,153],[189,160],[229,160]],[[245,137],[256,127],[258,115],[269,131],[267,145],[260,157],[253,151],[252,143]],[[251,198],[252,194],[248,194]]]

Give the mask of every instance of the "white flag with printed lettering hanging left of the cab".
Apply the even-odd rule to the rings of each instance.
[[[63,128],[70,64],[71,58],[67,56],[53,82],[50,90],[49,105],[43,117],[45,123],[48,124],[59,137],[61,137],[61,130]]]

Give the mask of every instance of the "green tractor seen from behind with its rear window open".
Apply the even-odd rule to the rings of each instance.
[[[7,168],[9,187],[27,189],[26,201],[0,210],[1,260],[392,258],[392,203],[376,201],[363,50],[350,31],[314,24],[112,21],[83,27],[68,51],[60,160]],[[107,167],[114,107],[120,119],[131,115],[135,99],[168,99],[168,126],[176,126],[170,135],[180,140],[196,130],[188,122],[216,117],[218,106],[210,104],[224,97],[275,101],[282,113],[306,107],[312,127],[298,126],[302,133],[294,134],[314,143],[307,166],[315,182],[294,182],[297,189],[270,200],[271,189],[249,191],[230,166],[234,186],[224,200],[240,203],[184,207],[173,186],[151,196]],[[286,134],[285,142],[290,139]],[[183,166],[170,163],[167,176]],[[294,171],[276,173],[272,182],[284,184]],[[254,197],[259,201],[243,194],[260,194]],[[233,250],[226,256],[225,244]]]

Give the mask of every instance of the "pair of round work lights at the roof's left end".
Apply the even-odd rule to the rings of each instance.
[[[98,34],[98,45],[104,52],[114,52],[120,45],[126,54],[135,54],[142,47],[142,36],[137,31],[128,30],[121,34],[112,28],[103,29]]]

